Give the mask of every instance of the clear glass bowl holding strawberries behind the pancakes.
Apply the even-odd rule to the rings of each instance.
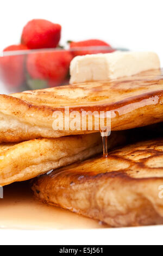
[[[48,48],[0,52],[0,93],[62,86],[70,80],[70,62],[78,55],[127,51],[108,46],[64,50]]]

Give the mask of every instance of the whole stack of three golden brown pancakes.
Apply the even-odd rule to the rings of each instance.
[[[53,129],[65,107],[110,111],[108,157],[96,124]],[[163,223],[162,113],[163,70],[0,95],[0,185],[36,177],[34,194],[47,204],[112,227]]]

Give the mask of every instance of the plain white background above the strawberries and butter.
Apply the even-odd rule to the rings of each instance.
[[[47,19],[62,26],[62,44],[103,39],[158,52],[163,62],[162,0],[1,0],[0,10],[0,50],[20,41],[29,20]]]

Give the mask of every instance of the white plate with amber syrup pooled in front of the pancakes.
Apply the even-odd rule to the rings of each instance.
[[[102,228],[98,221],[38,202],[28,182],[4,187],[1,245],[159,245],[163,226]],[[71,228],[71,229],[70,229]]]

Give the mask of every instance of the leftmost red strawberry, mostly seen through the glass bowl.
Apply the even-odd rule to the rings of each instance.
[[[24,45],[11,45],[3,51],[27,50]],[[0,57],[0,76],[3,83],[9,87],[18,87],[24,82],[24,55]]]

